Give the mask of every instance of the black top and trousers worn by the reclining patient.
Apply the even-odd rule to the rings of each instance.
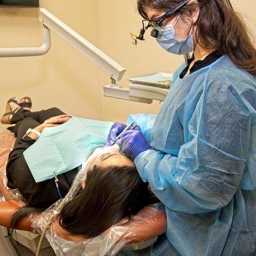
[[[28,164],[23,156],[23,152],[29,148],[35,140],[28,136],[24,136],[29,128],[44,123],[45,120],[52,116],[63,115],[64,113],[58,108],[51,108],[38,112],[31,112],[26,109],[19,109],[12,118],[13,132],[17,136],[17,140],[10,152],[8,164],[6,166],[6,177],[8,179],[8,187],[18,189],[20,194],[28,200],[28,204],[36,207],[49,207],[60,197],[56,190],[54,179],[45,180],[44,182],[35,182],[31,174]],[[64,197],[76,177],[79,167],[70,170],[67,173],[58,175],[58,184],[61,195]]]

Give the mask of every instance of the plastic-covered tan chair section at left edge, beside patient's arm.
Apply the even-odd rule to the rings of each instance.
[[[4,200],[13,200],[21,197],[17,189],[7,187],[6,164],[14,143],[15,136],[13,133],[8,130],[0,129],[0,196],[2,196]]]

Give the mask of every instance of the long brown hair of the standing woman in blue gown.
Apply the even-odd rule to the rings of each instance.
[[[148,19],[147,6],[167,12],[177,6],[180,0],[138,0],[138,11],[144,19]],[[198,4],[187,4],[180,13],[200,8],[197,24],[199,44],[209,49],[216,49],[227,56],[239,68],[243,68],[256,76],[256,49],[252,36],[248,33],[243,19],[230,6],[227,0],[198,0]],[[186,19],[186,15],[182,15]]]

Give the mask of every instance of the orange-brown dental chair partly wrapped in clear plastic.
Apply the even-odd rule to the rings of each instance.
[[[12,150],[14,142],[15,137],[11,132],[0,129],[0,239],[2,239],[6,243],[12,255],[35,255],[36,248],[40,240],[40,234],[38,234],[36,228],[33,227],[33,221],[29,218],[23,220],[19,225],[19,230],[14,230],[13,234],[12,230],[8,228],[10,217],[12,216],[13,212],[20,206],[24,205],[24,202],[20,200],[21,196],[19,192],[8,189],[6,186],[7,182],[5,167],[8,161],[8,154]],[[163,211],[158,211],[156,208],[150,207],[149,205],[148,207],[145,207],[143,210],[138,212],[138,214],[134,216],[134,220],[129,222],[129,224],[125,225],[126,228],[128,225],[131,232],[128,232],[126,234],[118,234],[118,236],[120,236],[120,238],[118,238],[118,243],[122,244],[122,246],[119,246],[120,250],[140,250],[154,244],[157,240],[157,237],[160,234],[164,233],[166,229],[166,216]],[[120,225],[119,227],[121,228],[111,228],[109,232],[115,234],[120,232],[122,233],[122,228],[124,228],[124,226]],[[58,234],[58,228],[56,228],[56,230],[54,232],[56,232],[58,237],[60,235]],[[102,234],[100,236],[105,236],[105,234]],[[56,237],[54,237],[54,239],[56,239]],[[70,241],[72,241],[72,243],[75,243],[76,241],[76,239],[74,239],[74,237],[72,236],[69,237],[69,239]],[[105,240],[103,239],[102,241]],[[101,245],[102,241],[100,241]],[[61,243],[63,243],[63,241],[61,241]],[[18,247],[20,246],[20,244],[22,244],[22,247],[25,246],[26,248],[28,248],[29,253],[32,252],[33,254],[19,254]],[[86,253],[83,255],[106,255],[102,253],[97,253],[99,244],[92,243],[92,246],[90,250],[92,252],[94,251],[95,254]],[[55,251],[56,250],[58,252],[58,248],[55,248]],[[88,250],[88,247],[86,247],[86,250]],[[51,244],[48,243],[46,239],[44,239],[44,243],[42,244],[42,250],[40,251],[40,255],[55,255],[54,250],[52,250],[51,248]],[[115,253],[111,255],[115,255]]]

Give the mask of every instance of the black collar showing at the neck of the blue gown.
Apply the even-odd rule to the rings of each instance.
[[[194,65],[190,68],[189,72],[192,74],[193,72],[196,72],[197,70],[200,70],[201,68],[204,68],[208,65],[211,65],[214,63],[214,61],[218,60],[223,54],[221,54],[218,51],[214,51],[211,54],[207,55],[204,60],[198,60],[194,63]],[[195,60],[195,58],[191,58],[188,60],[188,65],[184,70],[180,73],[180,79],[184,78],[184,76],[187,74],[189,65],[191,62]]]

